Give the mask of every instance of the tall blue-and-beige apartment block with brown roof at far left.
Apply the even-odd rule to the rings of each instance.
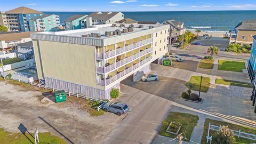
[[[18,7],[17,9],[7,11],[5,14],[8,22],[8,28],[10,30],[23,32],[30,31],[30,19],[43,15],[42,12],[29,9],[28,7]]]

